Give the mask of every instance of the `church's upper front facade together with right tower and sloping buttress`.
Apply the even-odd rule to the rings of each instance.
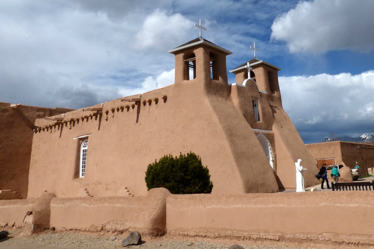
[[[247,69],[236,72],[237,84],[248,77]],[[253,65],[256,83],[247,80],[245,87],[233,85],[231,95],[237,110],[243,114],[254,129],[269,130],[263,134],[272,145],[274,174],[280,189],[296,188],[295,162],[303,160],[305,187],[318,183],[315,175],[315,163],[304,146],[294,124],[282,107],[281,93],[276,69],[265,64]],[[270,79],[269,79],[270,77]],[[264,91],[264,92],[260,92]],[[260,120],[255,122],[252,98],[258,99]],[[311,169],[311,170],[310,170]]]

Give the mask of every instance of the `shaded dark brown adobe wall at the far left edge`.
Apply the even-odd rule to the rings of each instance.
[[[65,108],[42,108],[0,102],[0,190],[11,189],[27,196],[28,171],[34,122],[37,118],[71,111]]]

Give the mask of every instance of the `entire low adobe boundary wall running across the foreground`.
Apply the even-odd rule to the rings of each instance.
[[[22,222],[39,198],[1,200],[0,225]],[[50,216],[44,212],[44,218],[57,231],[374,246],[373,191],[174,195],[152,189],[140,197],[49,200]]]

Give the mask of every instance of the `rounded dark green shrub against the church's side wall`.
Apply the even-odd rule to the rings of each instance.
[[[187,156],[181,153],[179,158],[165,155],[158,162],[155,160],[148,165],[145,183],[148,190],[163,187],[172,194],[211,193],[213,188],[209,169],[192,152]]]

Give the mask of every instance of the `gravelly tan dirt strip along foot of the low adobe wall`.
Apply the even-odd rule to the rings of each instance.
[[[44,231],[25,234],[21,230],[8,230],[9,236],[0,240],[0,249],[119,249],[126,234],[74,233]],[[318,243],[286,243],[277,241],[248,241],[209,239],[203,237],[142,237],[142,244],[128,246],[131,249],[229,249],[237,244],[245,249],[322,249],[322,248],[365,248],[359,245],[322,245]],[[366,247],[368,248],[368,247]],[[369,247],[370,248],[370,247]],[[371,247],[373,248],[373,247]]]

